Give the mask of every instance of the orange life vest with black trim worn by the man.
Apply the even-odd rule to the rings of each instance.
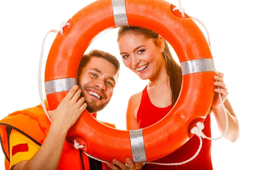
[[[48,110],[47,102],[45,102]],[[93,115],[95,116],[95,115]],[[107,122],[102,122],[105,125],[115,127],[115,125]],[[44,113],[41,105],[33,108],[24,109],[23,111],[16,111],[9,114],[0,121],[0,142],[3,153],[5,155],[5,169],[9,170],[10,166],[10,148],[9,136],[12,129],[17,130],[36,144],[41,146],[49,131],[51,123]],[[58,170],[107,170],[105,163],[91,159],[86,156],[82,150],[76,150],[65,141],[61,159],[58,164]]]

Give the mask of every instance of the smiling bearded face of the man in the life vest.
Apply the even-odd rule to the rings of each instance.
[[[101,111],[108,105],[116,85],[116,68],[105,59],[92,57],[81,70],[79,87],[89,113]]]

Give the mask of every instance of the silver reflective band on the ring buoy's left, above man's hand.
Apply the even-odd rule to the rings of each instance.
[[[55,79],[45,82],[46,94],[52,94],[61,91],[69,91],[73,85],[76,85],[77,80],[75,78]]]

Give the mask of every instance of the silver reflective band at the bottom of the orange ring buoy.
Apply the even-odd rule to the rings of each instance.
[[[142,129],[130,130],[131,152],[134,162],[146,162]]]

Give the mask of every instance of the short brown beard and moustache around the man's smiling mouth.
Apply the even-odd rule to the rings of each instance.
[[[84,99],[85,99],[84,102],[87,104],[86,109],[89,113],[94,113],[94,112],[97,112],[97,111],[101,111],[110,102],[110,100],[108,100],[108,101],[105,101],[104,103],[102,103],[101,105],[95,105],[94,100],[93,99],[87,100],[83,93],[87,93],[86,89],[93,89],[95,91],[99,91],[103,95],[102,96],[103,99],[107,99],[107,96],[103,93],[103,91],[99,90],[98,88],[96,88],[94,86],[90,86],[90,85],[84,85],[83,87],[81,86],[80,83],[78,83],[78,85],[79,85],[79,88],[81,88],[81,90],[82,90],[81,96],[84,97]]]

